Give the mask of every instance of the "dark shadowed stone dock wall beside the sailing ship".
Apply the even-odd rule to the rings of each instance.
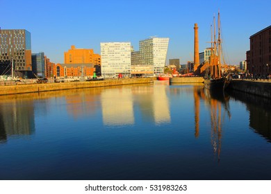
[[[271,98],[271,81],[267,80],[231,80],[229,89]]]

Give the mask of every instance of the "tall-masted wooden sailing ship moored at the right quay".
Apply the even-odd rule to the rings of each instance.
[[[217,18],[217,39],[215,33],[215,18],[214,18],[214,33],[212,33],[211,26],[211,56],[208,61],[208,69],[206,70],[206,76],[204,77],[204,87],[207,89],[220,89],[224,90],[227,87],[227,78],[222,76],[220,56],[222,55],[222,41],[220,38],[220,12],[218,12]]]

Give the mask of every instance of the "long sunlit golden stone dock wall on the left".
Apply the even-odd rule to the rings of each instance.
[[[154,82],[154,78],[122,78],[111,80],[99,80],[89,82],[60,82],[29,85],[0,86],[0,95],[26,94],[43,91],[57,91],[65,89],[82,89],[90,87],[109,87],[117,85],[133,85]]]

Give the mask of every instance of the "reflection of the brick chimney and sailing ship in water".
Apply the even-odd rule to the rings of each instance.
[[[225,116],[231,117],[229,112],[229,96],[223,91],[210,91],[203,87],[194,87],[195,98],[195,137],[199,137],[199,106],[200,99],[210,109],[211,118],[211,145],[213,146],[214,156],[220,161],[220,153],[222,150],[222,128]]]

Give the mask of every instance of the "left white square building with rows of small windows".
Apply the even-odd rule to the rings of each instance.
[[[131,74],[131,42],[101,42],[101,75]]]

